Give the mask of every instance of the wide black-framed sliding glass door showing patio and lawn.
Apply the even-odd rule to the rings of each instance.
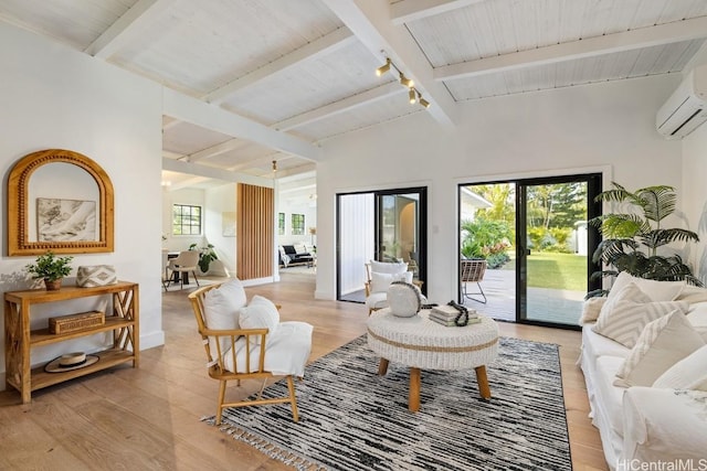
[[[487,269],[481,281],[460,278],[460,300],[498,320],[577,328],[599,283],[590,280],[599,235],[587,222],[600,192],[600,174],[461,185],[461,257]],[[464,296],[473,290],[484,297]]]

